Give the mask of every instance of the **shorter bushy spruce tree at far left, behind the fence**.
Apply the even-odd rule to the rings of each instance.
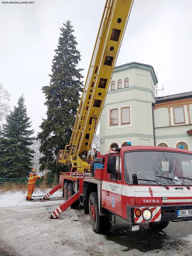
[[[18,106],[6,116],[6,123],[3,124],[0,145],[0,173],[3,177],[26,177],[31,170],[34,151],[29,146],[35,138],[31,137],[34,130],[29,130],[29,119],[22,95],[18,100]]]

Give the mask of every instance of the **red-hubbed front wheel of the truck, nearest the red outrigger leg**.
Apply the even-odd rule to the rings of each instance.
[[[93,230],[96,233],[104,233],[111,229],[109,216],[99,215],[98,193],[92,192],[89,196],[89,215]]]

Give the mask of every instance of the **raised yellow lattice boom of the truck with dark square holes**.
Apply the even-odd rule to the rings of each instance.
[[[97,39],[69,145],[60,150],[60,163],[77,172],[88,167],[93,137],[108,92],[118,52],[134,0],[106,0]]]

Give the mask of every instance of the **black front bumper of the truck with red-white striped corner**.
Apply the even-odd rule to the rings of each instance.
[[[153,216],[151,220],[145,221],[142,218],[142,214],[140,218],[137,218],[134,214],[135,210],[140,209],[141,213],[145,209],[151,210],[153,213],[153,209],[158,208],[159,209],[159,216],[156,218]],[[162,205],[162,206],[126,206],[127,210],[127,221],[130,223],[144,223],[144,222],[156,222],[156,221],[169,221],[169,220],[192,220],[192,216],[177,216],[177,210],[192,210],[192,205],[191,204],[185,204],[185,205]],[[161,215],[160,215],[161,213]]]

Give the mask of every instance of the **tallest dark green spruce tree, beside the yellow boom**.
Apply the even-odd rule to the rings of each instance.
[[[42,132],[38,134],[40,152],[43,153],[40,170],[52,170],[55,178],[62,170],[58,164],[58,152],[69,143],[79,106],[79,92],[83,87],[80,73],[83,69],[77,68],[81,55],[76,49],[71,22],[63,23],[60,30],[59,43],[52,60],[52,74],[49,75],[50,85],[42,88],[46,97],[47,118],[43,119],[40,126]]]

